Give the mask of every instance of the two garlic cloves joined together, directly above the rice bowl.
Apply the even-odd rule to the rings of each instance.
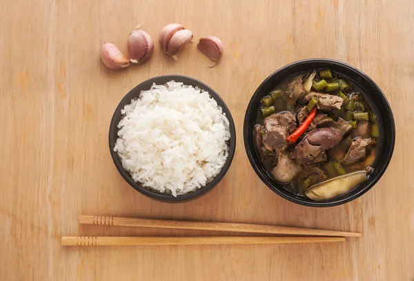
[[[170,23],[159,32],[159,44],[166,54],[177,61],[177,53],[183,49],[188,42],[192,41],[193,32],[185,29],[179,23]]]

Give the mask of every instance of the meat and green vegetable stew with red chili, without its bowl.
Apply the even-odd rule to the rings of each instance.
[[[345,76],[290,76],[261,99],[253,137],[266,171],[285,189],[328,200],[363,183],[382,145],[379,112]]]

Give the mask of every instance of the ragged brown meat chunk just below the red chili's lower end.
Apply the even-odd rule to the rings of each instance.
[[[320,145],[311,145],[305,137],[297,144],[290,158],[296,159],[299,164],[311,165],[326,161],[326,152]]]

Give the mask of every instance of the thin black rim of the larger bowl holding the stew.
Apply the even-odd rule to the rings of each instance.
[[[338,199],[338,200],[334,200],[334,201],[330,200],[329,202],[325,202],[325,201],[314,201],[314,202],[303,201],[303,200],[299,200],[299,199],[297,199],[293,196],[288,196],[288,195],[284,194],[282,191],[279,190],[279,188],[275,187],[273,185],[273,183],[271,183],[269,180],[267,180],[267,178],[265,178],[264,175],[262,174],[262,171],[259,170],[257,164],[255,163],[255,161],[253,159],[253,153],[254,152],[251,151],[251,149],[249,147],[249,143],[248,143],[248,134],[249,134],[249,132],[248,132],[248,119],[249,119],[248,116],[250,116],[250,114],[251,114],[251,108],[252,108],[253,100],[255,99],[255,97],[258,96],[262,92],[262,89],[265,87],[266,83],[268,83],[268,81],[270,81],[270,79],[272,79],[273,76],[277,75],[279,72],[282,72],[284,70],[288,70],[289,68],[294,67],[296,65],[307,64],[307,63],[330,63],[332,65],[339,65],[340,67],[345,67],[348,70],[350,70],[352,72],[355,72],[358,76],[362,76],[362,78],[366,79],[366,81],[368,81],[368,83],[371,83],[375,87],[375,90],[378,92],[378,94],[380,94],[382,96],[382,98],[384,100],[384,103],[386,105],[386,109],[388,111],[387,113],[389,114],[389,116],[391,116],[390,132],[387,132],[388,134],[391,135],[391,149],[389,150],[388,155],[386,155],[386,161],[385,161],[384,165],[382,165],[382,167],[381,167],[380,171],[378,172],[378,174],[373,178],[371,183],[368,183],[368,185],[366,185],[366,187],[364,187],[364,189],[361,189],[356,194],[353,194],[352,196],[349,196],[349,197],[346,197],[346,198],[341,198],[341,199]],[[289,75],[294,74],[294,73],[295,72],[292,72]],[[289,200],[290,202],[295,202],[299,205],[304,205],[304,206],[308,206],[308,207],[333,207],[333,206],[345,204],[346,202],[350,202],[351,200],[354,200],[354,199],[358,198],[359,196],[362,196],[369,189],[371,189],[378,182],[378,180],[380,180],[380,178],[384,175],[384,172],[386,171],[386,169],[387,169],[387,167],[388,167],[388,165],[391,161],[391,158],[393,156],[393,152],[394,152],[394,147],[395,147],[395,121],[394,121],[393,111],[391,110],[391,106],[388,103],[388,100],[386,99],[386,96],[384,95],[384,92],[382,92],[381,88],[367,74],[365,74],[361,70],[357,69],[356,67],[353,67],[352,65],[349,65],[348,63],[344,63],[342,61],[337,61],[337,60],[334,60],[334,59],[322,59],[322,58],[304,59],[304,60],[300,60],[300,61],[294,61],[293,63],[289,63],[288,65],[284,65],[283,67],[280,67],[278,70],[276,70],[275,72],[270,74],[266,79],[264,79],[264,81],[259,85],[259,87],[257,87],[257,90],[255,90],[255,93],[250,98],[250,101],[249,101],[248,106],[246,108],[246,114],[244,115],[243,140],[244,140],[244,148],[246,149],[246,154],[248,156],[248,160],[250,162],[250,165],[253,167],[253,169],[255,170],[255,173],[257,174],[257,176],[259,176],[259,178],[262,180],[262,182],[268,188],[270,188],[272,191],[274,191],[276,194],[278,194],[282,198],[285,198],[285,199]],[[335,199],[335,198],[333,198],[333,199]]]

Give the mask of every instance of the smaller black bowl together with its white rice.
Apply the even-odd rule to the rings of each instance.
[[[183,202],[210,191],[235,154],[233,118],[219,94],[188,76],[148,79],[119,103],[110,154],[137,191]]]

